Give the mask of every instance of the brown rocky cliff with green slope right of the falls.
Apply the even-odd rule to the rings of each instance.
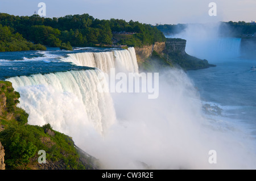
[[[190,56],[185,52],[186,40],[166,39],[166,42],[135,48],[141,70],[152,71],[164,66],[176,66],[184,70],[209,68],[207,60]]]

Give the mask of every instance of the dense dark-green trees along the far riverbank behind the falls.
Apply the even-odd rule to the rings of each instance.
[[[94,19],[88,14],[66,15],[60,18],[44,18],[39,15],[14,16],[0,13],[0,24],[19,33],[28,41],[52,47],[85,47],[112,45],[113,35],[131,35],[115,44],[141,46],[164,41],[156,27],[125,20]]]

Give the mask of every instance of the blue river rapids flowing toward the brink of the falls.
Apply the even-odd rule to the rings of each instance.
[[[72,52],[59,48],[47,48],[46,51],[0,52],[0,80],[21,75],[86,70],[87,67],[63,62],[60,58],[67,57],[69,53],[104,51],[109,51],[109,48],[75,48]]]

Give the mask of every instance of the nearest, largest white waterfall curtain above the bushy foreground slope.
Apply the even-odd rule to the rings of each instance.
[[[84,124],[104,133],[115,121],[112,97],[98,90],[100,70],[67,71],[7,79],[20,92],[20,104],[29,113],[29,124],[50,123],[71,134]],[[75,125],[77,124],[77,127]],[[72,134],[71,134],[72,135]]]

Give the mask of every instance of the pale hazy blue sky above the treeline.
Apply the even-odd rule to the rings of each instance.
[[[0,0],[0,12],[32,15],[46,3],[46,17],[88,13],[98,19],[125,19],[148,24],[256,20],[256,0]],[[210,2],[217,16],[209,16]]]

